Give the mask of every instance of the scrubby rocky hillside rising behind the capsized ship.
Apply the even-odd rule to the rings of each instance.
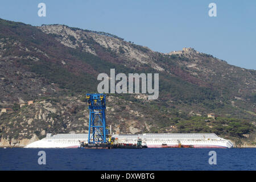
[[[0,19],[0,107],[13,109],[0,115],[2,145],[46,133],[87,133],[85,94],[97,92],[98,74],[111,68],[159,73],[158,100],[107,94],[114,133],[212,132],[255,144],[254,70],[193,48],[160,53],[105,32]],[[205,122],[208,113],[217,118]]]

